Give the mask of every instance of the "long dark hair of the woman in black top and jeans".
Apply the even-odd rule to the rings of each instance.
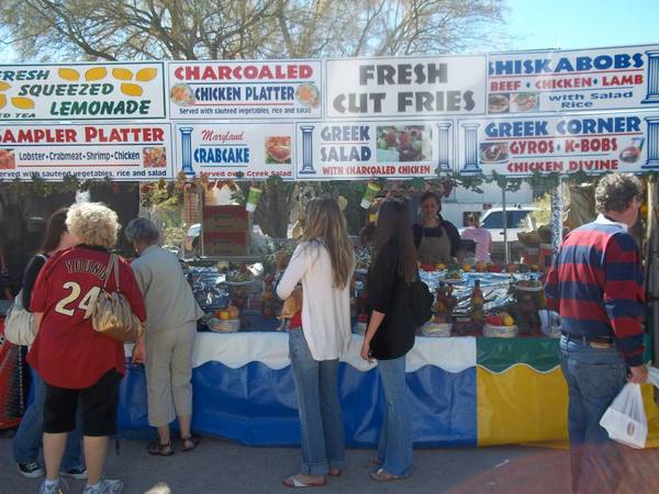
[[[376,256],[383,247],[394,243],[398,250],[398,274],[405,281],[414,281],[418,277],[416,268],[416,247],[412,235],[410,209],[407,201],[387,199],[378,211],[376,225]]]

